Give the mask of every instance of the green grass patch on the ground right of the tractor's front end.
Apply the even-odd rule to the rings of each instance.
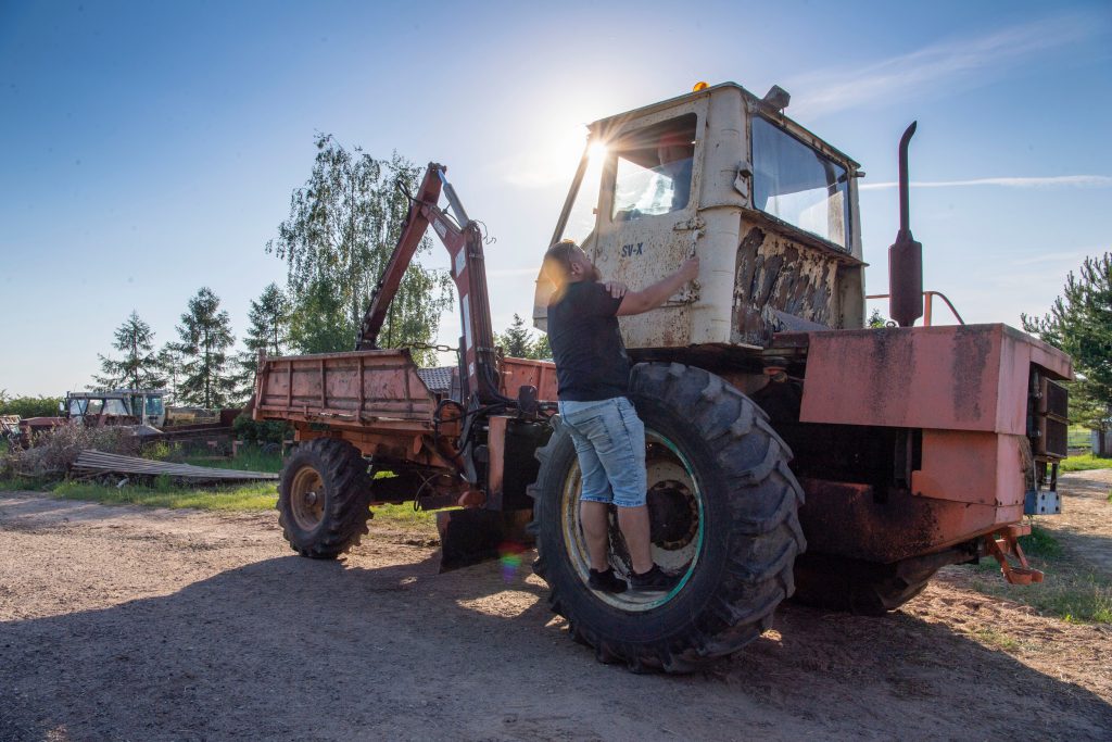
[[[1070,560],[1045,528],[1034,526],[1030,536],[1020,538],[1020,546],[1031,566],[1046,574],[1045,582],[1009,585],[996,561],[983,558],[970,571],[973,587],[1071,623],[1112,624],[1112,580]],[[986,641],[991,643],[991,639]]]

